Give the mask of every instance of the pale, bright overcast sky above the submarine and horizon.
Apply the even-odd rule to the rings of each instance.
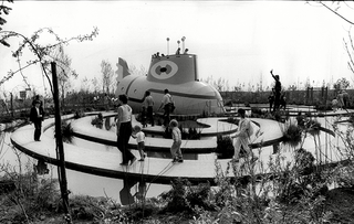
[[[221,78],[229,89],[240,85],[243,89],[257,85],[266,89],[274,83],[270,70],[280,75],[285,88],[301,88],[308,81],[320,87],[342,77],[354,86],[343,44],[350,24],[315,2],[15,1],[8,6],[12,10],[3,30],[27,36],[41,28],[52,28],[63,39],[98,29],[93,41],[65,46],[72,68],[79,74],[72,81],[72,90],[76,92],[84,78],[102,78],[103,60],[114,71],[118,57],[147,71],[152,54],[174,54],[183,36],[189,53],[198,55],[199,77]],[[339,10],[354,21],[353,2],[341,4]],[[50,40],[43,38],[45,41]],[[11,40],[11,47],[0,46],[0,79],[18,70],[11,51],[19,42]],[[48,81],[38,65],[22,74],[37,92],[48,92]],[[0,97],[1,92],[15,93],[24,87],[21,74],[17,74],[0,86]]]

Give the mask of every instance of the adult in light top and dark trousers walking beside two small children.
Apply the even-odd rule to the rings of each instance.
[[[122,152],[123,161],[121,166],[127,166],[131,161],[133,164],[136,157],[128,149],[129,138],[133,132],[132,128],[132,115],[133,110],[129,105],[127,105],[128,97],[125,94],[118,96],[121,106],[118,107],[118,114],[116,117],[116,135],[117,135],[117,148]]]

